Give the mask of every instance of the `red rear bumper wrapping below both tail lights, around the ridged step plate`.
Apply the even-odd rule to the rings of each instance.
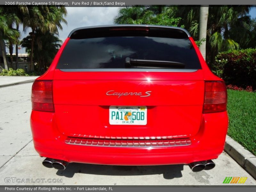
[[[228,128],[227,112],[203,114],[199,132],[191,145],[177,147],[100,147],[65,143],[55,114],[32,111],[30,124],[36,151],[40,156],[68,162],[109,165],[188,164],[216,159],[223,151]]]

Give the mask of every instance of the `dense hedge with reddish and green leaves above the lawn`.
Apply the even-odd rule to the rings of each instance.
[[[256,49],[220,52],[215,59],[213,72],[227,84],[256,89]]]

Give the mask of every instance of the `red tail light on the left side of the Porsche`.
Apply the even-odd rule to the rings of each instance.
[[[52,81],[35,81],[31,92],[32,110],[54,112]]]

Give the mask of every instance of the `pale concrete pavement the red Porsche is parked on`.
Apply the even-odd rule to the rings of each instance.
[[[41,164],[44,158],[39,157],[33,148],[29,127],[31,86],[29,83],[0,88],[0,185],[223,185],[225,177],[248,177],[241,185],[256,185],[256,181],[225,152],[214,160],[214,169],[197,173],[192,172],[187,165],[108,166],[72,163],[65,171],[45,168]],[[6,177],[40,182],[19,183],[11,180],[6,183]],[[62,182],[45,183],[41,179],[61,179]]]

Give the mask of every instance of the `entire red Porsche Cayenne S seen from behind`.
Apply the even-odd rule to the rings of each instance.
[[[211,169],[228,129],[227,91],[183,28],[73,30],[32,86],[44,166],[189,164]]]

